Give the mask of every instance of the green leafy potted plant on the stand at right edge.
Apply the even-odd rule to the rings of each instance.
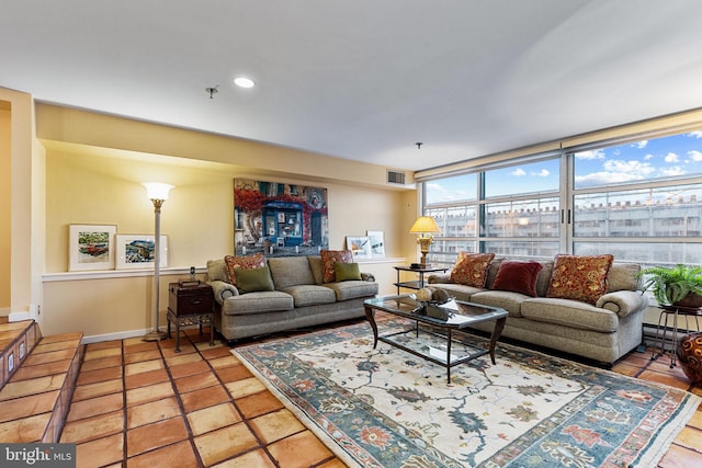
[[[702,307],[702,266],[687,266],[678,263],[675,267],[650,266],[638,273],[649,275],[643,290],[653,289],[654,297],[661,306]]]

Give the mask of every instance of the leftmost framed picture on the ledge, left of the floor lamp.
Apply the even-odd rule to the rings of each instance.
[[[70,225],[68,270],[113,270],[116,231],[114,225]]]

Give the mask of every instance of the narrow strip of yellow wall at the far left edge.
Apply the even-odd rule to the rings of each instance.
[[[0,102],[0,315],[10,312],[10,103]]]

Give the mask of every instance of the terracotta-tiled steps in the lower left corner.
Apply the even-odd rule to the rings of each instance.
[[[3,443],[59,441],[84,354],[81,332],[42,338],[30,322],[1,351],[8,375],[0,389]],[[0,323],[0,335],[5,326],[16,330],[16,323]]]

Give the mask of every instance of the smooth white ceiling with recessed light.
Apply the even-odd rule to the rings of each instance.
[[[0,0],[0,87],[419,170],[702,107],[700,25],[699,0]]]

